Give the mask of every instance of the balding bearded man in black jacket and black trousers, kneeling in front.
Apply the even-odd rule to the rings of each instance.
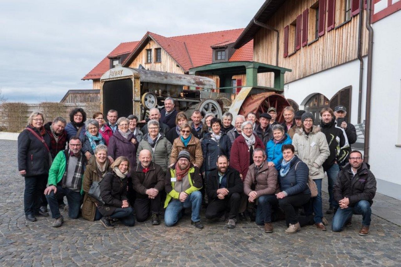
[[[229,209],[227,228],[235,228],[243,183],[239,177],[239,172],[229,167],[226,156],[222,155],[217,158],[217,170],[209,174],[206,191],[209,197],[206,218],[219,217],[222,213],[225,214],[226,209]]]

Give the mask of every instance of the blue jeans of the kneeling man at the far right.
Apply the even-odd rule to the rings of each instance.
[[[371,204],[367,200],[359,200],[354,206],[339,208],[336,211],[331,225],[333,232],[342,231],[346,221],[352,217],[352,214],[362,214],[362,225],[371,225]]]

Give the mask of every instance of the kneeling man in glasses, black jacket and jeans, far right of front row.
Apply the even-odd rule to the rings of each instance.
[[[363,162],[362,153],[358,150],[351,152],[349,164],[338,174],[333,193],[340,208],[334,214],[332,230],[342,231],[352,214],[362,214],[359,235],[369,235],[376,178],[369,170],[369,165]]]

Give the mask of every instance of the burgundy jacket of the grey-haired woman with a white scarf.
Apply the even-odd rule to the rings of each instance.
[[[256,148],[265,149],[262,141],[259,137],[255,136],[255,144],[253,144],[253,150]],[[242,174],[242,180],[245,180],[247,177],[247,172],[249,170],[250,162],[250,154],[249,147],[245,142],[245,138],[240,135],[235,139],[233,145],[231,146],[230,152],[230,166],[237,170],[240,174]]]

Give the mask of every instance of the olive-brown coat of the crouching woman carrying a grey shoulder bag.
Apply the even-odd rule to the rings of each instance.
[[[105,162],[105,172],[109,172],[109,160]],[[96,158],[91,157],[86,165],[85,172],[83,173],[82,190],[85,192],[83,196],[82,204],[82,217],[86,220],[93,222],[96,214],[96,202],[95,198],[88,195],[89,189],[91,188],[92,182],[99,182],[100,178],[97,174]]]

